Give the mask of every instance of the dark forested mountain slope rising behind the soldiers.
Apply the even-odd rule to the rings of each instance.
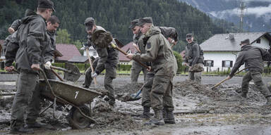
[[[213,34],[234,32],[234,25],[224,20],[214,22],[208,15],[193,6],[177,0],[52,0],[61,21],[60,29],[67,30],[72,42],[86,41],[83,25],[85,18],[93,17],[97,25],[104,27],[124,44],[132,41],[133,33],[128,29],[135,18],[151,16],[156,26],[175,27],[179,43],[175,51],[181,52],[186,44],[186,34],[193,33],[198,42]],[[8,35],[11,23],[23,18],[26,8],[37,7],[37,0],[0,1],[0,39]]]

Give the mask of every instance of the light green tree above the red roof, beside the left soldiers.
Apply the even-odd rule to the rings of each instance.
[[[56,32],[56,43],[57,44],[71,44],[71,34],[68,34],[66,29],[59,29]]]

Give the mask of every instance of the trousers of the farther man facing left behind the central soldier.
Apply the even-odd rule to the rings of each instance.
[[[143,71],[144,81],[145,81],[147,69],[143,67],[142,65],[140,65],[139,63],[137,63],[135,60],[133,60],[132,68],[131,68],[131,82],[138,82],[138,76],[141,71]]]

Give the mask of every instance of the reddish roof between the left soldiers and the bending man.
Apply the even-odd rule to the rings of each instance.
[[[73,44],[56,44],[56,50],[58,50],[63,56],[57,57],[56,60],[68,61],[73,56],[81,56],[75,45]]]

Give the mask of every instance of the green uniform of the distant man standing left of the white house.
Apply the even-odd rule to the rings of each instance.
[[[190,67],[197,66],[203,68],[203,50],[200,48],[197,42],[192,41],[190,44],[186,45],[186,56],[185,62],[189,64]],[[201,83],[201,72],[188,71],[188,79],[194,80]]]

